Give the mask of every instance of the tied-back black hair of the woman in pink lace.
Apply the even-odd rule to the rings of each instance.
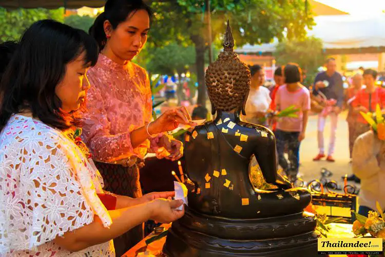
[[[102,50],[107,42],[107,36],[104,32],[104,22],[109,21],[112,28],[127,20],[127,17],[139,10],[145,10],[148,13],[150,24],[152,22],[152,10],[142,0],[107,0],[104,6],[104,12],[99,14],[93,25],[89,29],[90,35],[98,42]]]

